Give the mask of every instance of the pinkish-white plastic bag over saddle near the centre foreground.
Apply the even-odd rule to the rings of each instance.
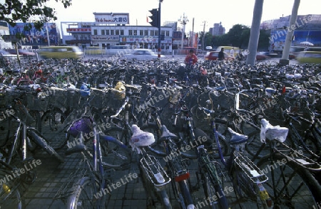
[[[139,146],[149,146],[155,142],[154,134],[142,131],[137,125],[133,124],[131,130],[133,136],[131,136],[129,144],[131,144],[133,150],[136,149],[138,154],[141,153]]]

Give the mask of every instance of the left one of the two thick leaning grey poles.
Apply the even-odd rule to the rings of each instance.
[[[258,50],[258,41],[260,37],[260,22],[263,12],[263,0],[255,0],[253,9],[252,26],[250,32],[250,41],[248,43],[249,54],[246,58],[247,65],[255,65],[256,52]]]

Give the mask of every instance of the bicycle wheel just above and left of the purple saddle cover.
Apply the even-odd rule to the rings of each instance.
[[[66,115],[59,108],[49,109],[41,117],[41,133],[44,131],[57,132],[61,129],[63,122],[66,119]],[[45,130],[45,127],[49,127],[49,130]]]

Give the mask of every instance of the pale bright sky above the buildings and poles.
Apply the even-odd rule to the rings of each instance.
[[[159,0],[72,0],[72,5],[65,9],[61,0],[58,1],[51,0],[47,3],[56,9],[58,26],[61,21],[94,21],[93,12],[128,13],[130,25],[150,26],[146,21],[147,16],[151,15],[148,10],[158,8],[159,4]],[[163,0],[161,24],[165,21],[178,21],[185,16],[188,19],[185,32],[203,31],[204,24],[206,32],[214,23],[221,22],[228,33],[235,24],[251,26],[254,3],[255,0]],[[261,21],[290,15],[293,3],[294,0],[265,0]],[[320,8],[320,0],[301,0],[298,14],[321,14]],[[182,25],[179,23],[179,26]]]

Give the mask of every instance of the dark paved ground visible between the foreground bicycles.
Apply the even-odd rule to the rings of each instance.
[[[52,134],[45,134],[46,137],[51,137]],[[54,137],[59,139],[59,137]],[[61,135],[61,139],[63,135]],[[52,145],[56,146],[60,141],[52,141]],[[63,155],[66,148],[58,151],[59,154]],[[71,156],[64,156],[65,162],[59,164],[54,158],[48,156],[44,151],[39,151],[34,155],[34,159],[38,160],[39,164],[34,167],[34,171],[37,173],[37,178],[34,183],[27,186],[24,192],[24,200],[26,204],[26,209],[38,209],[38,208],[66,208],[65,202],[61,199],[55,199],[55,195],[64,183],[70,183],[76,181],[76,178],[70,176],[70,174],[78,168],[78,162],[81,159],[80,154],[72,154]],[[135,159],[135,157],[134,157]],[[159,158],[162,164],[164,163],[162,158]],[[190,161],[190,179],[192,179],[191,184],[195,185],[195,161]],[[138,178],[133,178],[131,181],[128,178],[126,182],[126,177],[129,173],[137,174]],[[111,180],[114,183],[122,181],[122,185],[116,189],[113,189],[111,195],[108,195],[108,200],[106,202],[106,208],[146,208],[146,191],[143,188],[141,181],[141,174],[138,169],[137,163],[133,161],[131,168],[126,171],[111,171]],[[133,175],[134,176],[134,175]],[[226,185],[230,187],[230,185]],[[171,192],[171,186],[167,188],[168,195],[170,197],[173,208],[179,208],[177,201]],[[233,193],[231,193],[233,196]],[[193,198],[195,204],[202,205],[204,201],[204,194],[202,188],[199,191],[193,193]],[[203,203],[204,204],[204,203]],[[3,208],[1,208],[3,209]],[[11,209],[11,208],[9,208]]]

